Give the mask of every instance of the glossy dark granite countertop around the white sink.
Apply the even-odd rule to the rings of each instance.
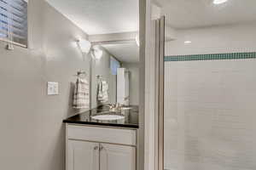
[[[96,120],[91,118],[91,116],[97,116],[104,113],[104,111],[108,111],[109,107],[106,105],[99,106],[95,109],[90,111],[84,111],[79,113],[78,115],[71,116],[63,122],[66,123],[74,123],[74,124],[88,124],[88,125],[98,125],[98,126],[106,126],[106,127],[129,127],[129,128],[138,128],[138,106],[137,105],[130,105],[130,110],[119,111],[119,112],[110,112],[110,114],[125,116],[123,119],[119,120]],[[102,112],[103,111],[103,112]]]

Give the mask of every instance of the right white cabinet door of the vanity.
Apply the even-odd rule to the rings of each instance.
[[[101,170],[136,170],[136,148],[117,144],[100,144]]]

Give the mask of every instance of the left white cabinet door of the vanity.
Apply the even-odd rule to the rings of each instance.
[[[99,144],[67,140],[67,170],[99,170]]]

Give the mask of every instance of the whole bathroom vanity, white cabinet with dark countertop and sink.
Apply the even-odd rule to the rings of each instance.
[[[115,115],[117,120],[113,120]],[[102,120],[95,119],[100,116]],[[106,112],[101,106],[63,122],[67,170],[137,169],[137,106],[119,112]]]

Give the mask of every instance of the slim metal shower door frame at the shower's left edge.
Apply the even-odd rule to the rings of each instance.
[[[165,16],[155,20],[155,169],[164,170]]]

